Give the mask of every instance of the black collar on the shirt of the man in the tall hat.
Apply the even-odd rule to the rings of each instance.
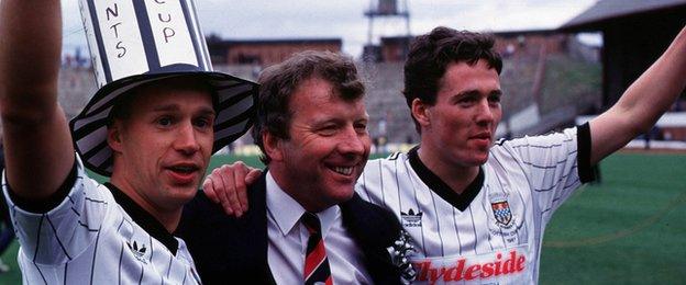
[[[143,209],[139,204],[133,202],[126,194],[124,194],[121,190],[114,186],[112,183],[108,182],[104,185],[110,189],[112,192],[112,196],[114,196],[114,201],[119,204],[125,212],[131,216],[133,221],[139,224],[141,228],[143,228],[147,233],[150,233],[153,238],[162,242],[172,254],[176,255],[176,250],[178,249],[178,240],[167,231],[167,229],[159,223],[153,215],[147,213],[147,210]]]

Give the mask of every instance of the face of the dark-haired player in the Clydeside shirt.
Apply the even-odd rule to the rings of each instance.
[[[498,72],[486,60],[449,65],[435,104],[412,104],[422,132],[420,151],[429,160],[424,163],[452,170],[486,163],[502,117],[501,93]]]

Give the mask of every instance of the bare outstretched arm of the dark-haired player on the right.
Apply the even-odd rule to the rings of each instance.
[[[590,122],[590,162],[648,132],[686,88],[686,27],[667,50],[622,94],[617,104]]]

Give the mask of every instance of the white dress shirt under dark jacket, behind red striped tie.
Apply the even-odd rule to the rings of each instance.
[[[267,183],[267,229],[269,269],[277,284],[302,284],[305,255],[310,237],[300,223],[305,208],[276,184],[272,173]],[[321,223],[322,238],[334,284],[372,284],[363,263],[362,249],[343,227],[341,208],[336,205],[317,216]]]

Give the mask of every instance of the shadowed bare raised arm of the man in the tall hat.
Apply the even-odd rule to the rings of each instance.
[[[74,164],[71,136],[57,103],[60,49],[59,1],[0,1],[5,171],[21,197],[48,197]]]

